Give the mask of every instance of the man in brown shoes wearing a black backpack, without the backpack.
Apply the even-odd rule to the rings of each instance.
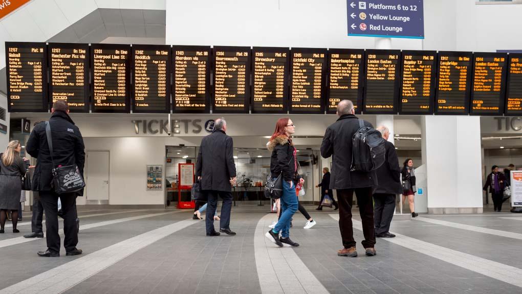
[[[337,189],[339,203],[339,229],[341,231],[343,249],[337,251],[339,256],[357,256],[352,226],[353,192],[357,197],[361,213],[364,233],[363,247],[366,255],[375,255],[375,236],[373,227],[372,187],[377,186],[374,172],[352,171],[352,137],[359,130],[359,119],[354,115],[355,109],[350,100],[343,100],[337,105],[339,119],[330,125],[325,132],[321,144],[321,155],[324,158],[333,156],[330,176],[330,189]],[[367,121],[364,126],[373,127]]]

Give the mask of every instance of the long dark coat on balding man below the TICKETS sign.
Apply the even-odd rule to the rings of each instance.
[[[236,176],[233,150],[232,138],[222,130],[213,131],[201,140],[196,163],[201,190],[232,191],[230,178]]]

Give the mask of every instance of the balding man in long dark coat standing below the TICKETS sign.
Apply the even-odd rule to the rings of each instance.
[[[221,207],[220,232],[235,235],[230,230],[230,210],[232,209],[232,186],[235,185],[234,143],[227,136],[227,122],[224,118],[216,119],[214,130],[201,140],[196,163],[196,177],[200,180],[201,190],[206,194],[207,213],[205,225],[207,236],[219,236],[214,228],[214,213],[218,197],[223,199]]]

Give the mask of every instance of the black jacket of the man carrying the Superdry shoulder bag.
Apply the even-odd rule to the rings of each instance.
[[[33,128],[26,144],[27,153],[38,159],[31,182],[33,191],[52,190],[51,182],[53,176],[51,169],[60,165],[76,164],[80,174],[84,176],[84,139],[81,137],[78,127],[74,125],[74,121],[70,119],[67,113],[56,111],[51,115],[49,124],[53,140],[53,160],[55,166],[53,166],[51,161],[51,152],[49,151],[45,134],[45,122],[39,123]],[[78,194],[82,195],[83,190],[79,191]]]

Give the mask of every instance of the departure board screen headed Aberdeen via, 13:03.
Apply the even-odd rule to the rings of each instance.
[[[210,46],[174,46],[174,113],[210,112]]]

